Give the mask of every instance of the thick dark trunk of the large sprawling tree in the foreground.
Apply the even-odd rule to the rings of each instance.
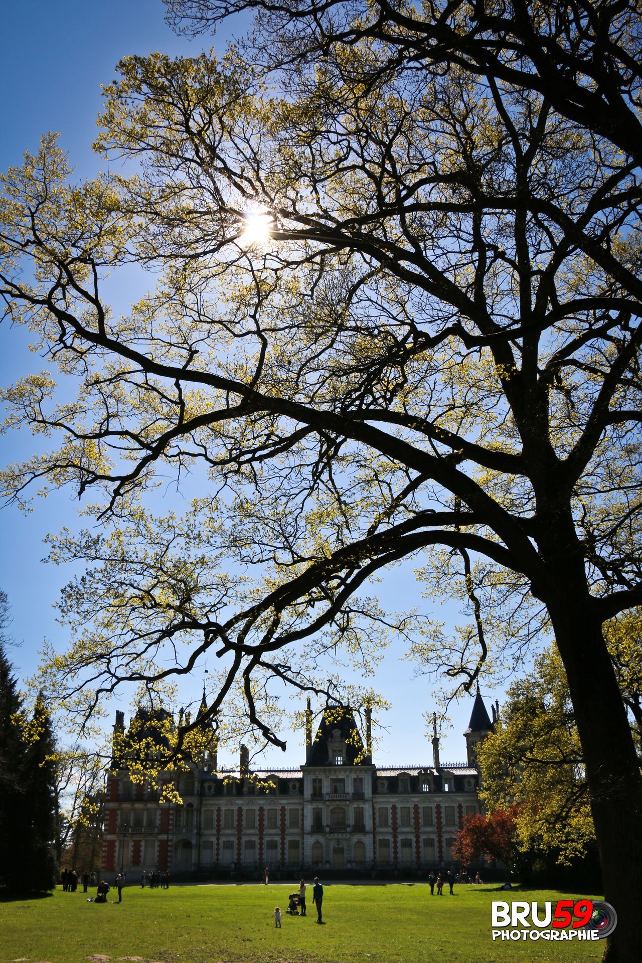
[[[547,602],[585,760],[604,899],[618,914],[615,933],[605,941],[603,958],[608,963],[637,963],[642,892],[640,766],[583,561],[578,564],[576,557],[560,567],[557,576],[559,593]]]

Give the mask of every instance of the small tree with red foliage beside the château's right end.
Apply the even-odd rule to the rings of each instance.
[[[521,868],[524,854],[517,846],[518,805],[496,809],[488,816],[467,816],[457,833],[452,855],[464,865],[478,863],[484,856],[499,859],[511,871]]]

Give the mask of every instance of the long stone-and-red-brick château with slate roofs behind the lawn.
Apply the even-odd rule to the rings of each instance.
[[[205,702],[201,706],[203,712]],[[239,768],[217,770],[216,752],[178,781],[182,804],[132,783],[125,768],[107,781],[103,872],[121,867],[173,879],[258,876],[284,872],[412,873],[449,867],[454,835],[479,812],[476,744],[493,731],[479,693],[464,733],[465,763],[442,763],[432,737],[432,766],[379,768],[349,712],[326,708],[315,738],[306,725],[306,760],[296,768],[250,770],[242,745]],[[141,713],[136,716],[137,733]],[[144,722],[144,719],[142,720]],[[116,713],[116,738],[127,742]],[[176,776],[167,773],[167,781]]]

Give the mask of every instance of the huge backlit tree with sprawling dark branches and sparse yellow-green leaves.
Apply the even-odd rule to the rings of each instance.
[[[476,47],[421,55],[422,24],[474,22],[476,4],[441,20],[275,5],[253,64],[126,59],[98,148],[131,176],[70,185],[46,138],[5,180],[0,281],[13,320],[81,386],[58,405],[48,373],[8,390],[15,424],[64,442],[10,470],[7,492],[70,484],[111,525],[53,539],[54,560],[90,565],[64,594],[78,638],[51,658],[60,692],[90,712],[211,650],[209,713],[239,683],[282,744],[270,678],[322,690],[323,652],[363,653],[385,629],[366,586],[418,559],[470,608],[454,642],[434,625],[423,642],[455,684],[552,630],[620,917],[608,952],[629,961],[642,782],[603,624],[642,602],[642,188],[611,109],[618,93],[637,122],[639,23],[609,6],[622,17],[577,8],[599,14],[602,47],[562,71],[565,98],[538,80],[532,31],[527,56],[505,53],[484,21],[510,69]],[[559,50],[583,57],[590,23],[559,29]],[[589,122],[596,93],[608,130]],[[132,261],[160,278],[115,317],[103,276]],[[183,517],[145,510],[164,473],[187,470],[204,488]]]

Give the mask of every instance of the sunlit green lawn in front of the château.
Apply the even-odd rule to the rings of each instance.
[[[324,887],[324,926],[309,905],[305,919],[284,912],[285,885],[185,886],[123,890],[120,905],[87,902],[81,891],[0,903],[0,960],[29,963],[584,963],[602,957],[595,943],[491,940],[491,900],[572,898],[552,890],[493,892],[456,886],[430,897],[425,884]],[[115,892],[108,899],[115,899]],[[311,894],[311,887],[308,889]],[[581,894],[586,896],[586,894]],[[310,903],[310,900],[309,900]]]

